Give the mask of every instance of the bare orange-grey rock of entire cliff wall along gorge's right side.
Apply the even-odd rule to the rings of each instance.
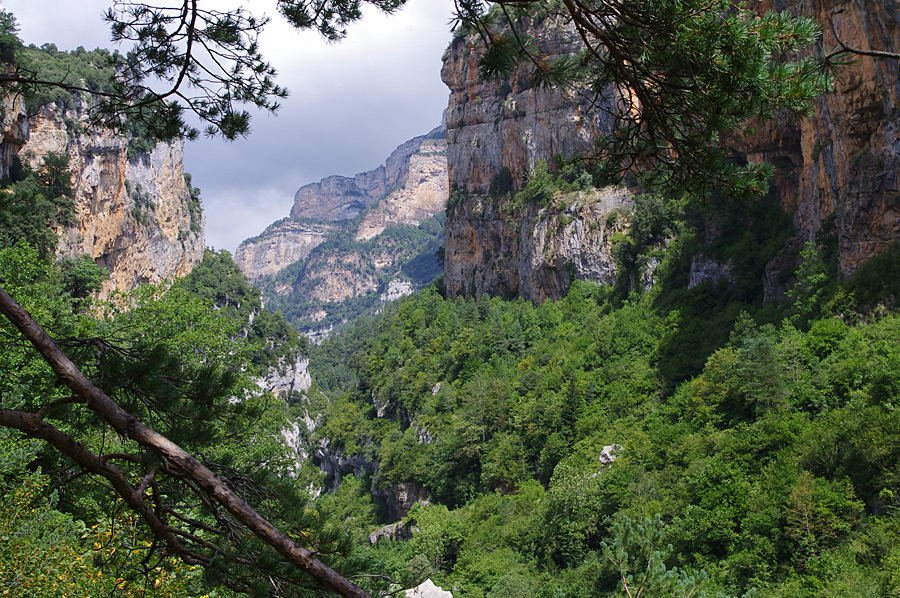
[[[826,48],[838,46],[836,34],[862,50],[900,51],[900,16],[892,0],[757,0],[755,6],[815,18]],[[536,40],[539,53],[551,57],[578,44],[566,27],[552,21],[540,24]],[[554,206],[504,212],[493,207],[487,191],[502,169],[512,175],[513,188],[521,188],[538,160],[589,150],[590,138],[609,131],[609,123],[577,95],[531,87],[524,67],[507,81],[482,81],[482,52],[477,37],[458,37],[444,58],[442,77],[450,88],[448,166],[460,198],[445,227],[445,285],[453,295],[519,294],[536,301],[559,297],[567,290],[566,277],[549,273],[561,271],[561,237],[529,237],[523,231],[566,229],[580,213]],[[812,118],[798,122],[782,115],[758,127],[752,137],[726,140],[746,158],[777,166],[776,192],[784,209],[794,214],[797,232],[766,273],[769,299],[783,292],[783,274],[796,268],[805,241],[833,239],[839,272],[849,276],[900,239],[898,122],[900,61],[855,56],[839,72],[834,89],[816,100]],[[616,201],[627,204],[627,194]],[[586,234],[581,249],[563,259],[576,264],[572,255],[598,251],[590,260],[611,264],[608,243],[592,238],[589,228]],[[540,256],[552,259],[540,262]],[[695,262],[692,284],[729,277],[728,263],[702,255]],[[567,268],[576,277],[611,280],[595,269]],[[529,269],[538,274],[529,278]]]

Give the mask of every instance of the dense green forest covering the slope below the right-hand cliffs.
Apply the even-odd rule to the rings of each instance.
[[[465,596],[889,587],[900,320],[803,331],[738,311],[717,347],[690,349],[696,375],[668,378],[664,349],[720,309],[713,289],[673,317],[664,287],[623,301],[576,282],[540,306],[429,288],[314,347],[333,398],[310,441],[377,461],[373,496],[431,495],[374,566]]]

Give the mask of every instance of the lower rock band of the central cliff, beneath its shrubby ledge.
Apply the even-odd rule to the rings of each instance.
[[[512,211],[471,196],[445,224],[444,286],[453,295],[558,299],[576,279],[615,284],[612,236],[631,194],[608,187]]]

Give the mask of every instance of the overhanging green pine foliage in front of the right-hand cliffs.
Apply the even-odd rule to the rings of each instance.
[[[763,164],[721,148],[777,110],[807,114],[828,85],[828,65],[797,52],[816,42],[810,19],[760,15],[730,0],[457,0],[459,26],[486,46],[485,77],[522,63],[535,83],[569,87],[613,123],[593,158],[607,178],[647,172],[653,188],[764,192]],[[578,55],[548,58],[535,25],[568,29]],[[836,57],[832,56],[834,60]]]

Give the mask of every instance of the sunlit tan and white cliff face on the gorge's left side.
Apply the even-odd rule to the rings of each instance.
[[[100,296],[184,276],[203,258],[199,196],[185,181],[180,141],[128,157],[128,142],[88,131],[78,111],[45,106],[28,121],[21,155],[32,167],[48,153],[65,153],[78,225],[58,231],[59,255],[86,253],[109,270]],[[4,144],[5,145],[5,144]]]

